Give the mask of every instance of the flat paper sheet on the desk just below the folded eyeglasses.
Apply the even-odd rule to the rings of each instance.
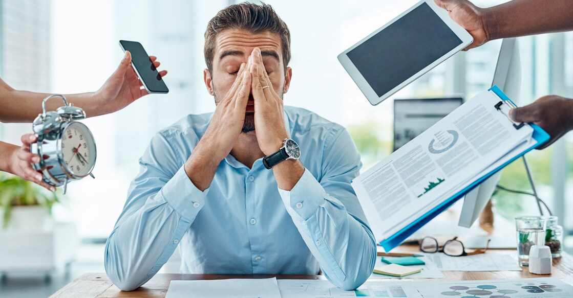
[[[481,253],[451,257],[445,253],[425,253],[441,271],[521,271],[516,256]]]

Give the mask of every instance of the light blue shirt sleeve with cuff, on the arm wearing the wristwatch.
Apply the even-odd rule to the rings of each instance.
[[[371,275],[376,261],[374,235],[350,185],[362,163],[343,128],[324,146],[320,181],[305,169],[290,192],[279,192],[328,280],[345,290],[356,289]]]

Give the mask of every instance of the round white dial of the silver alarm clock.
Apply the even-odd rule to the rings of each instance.
[[[70,173],[84,177],[91,173],[96,161],[96,144],[84,124],[72,122],[62,132],[62,158]]]

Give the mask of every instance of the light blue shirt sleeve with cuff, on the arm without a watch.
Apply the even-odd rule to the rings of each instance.
[[[107,243],[105,272],[123,291],[146,283],[175,251],[205,202],[178,160],[172,135],[156,134]]]

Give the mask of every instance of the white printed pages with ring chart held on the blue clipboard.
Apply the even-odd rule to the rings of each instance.
[[[352,181],[377,241],[531,146],[531,126],[516,129],[494,107],[500,101],[477,94]]]

